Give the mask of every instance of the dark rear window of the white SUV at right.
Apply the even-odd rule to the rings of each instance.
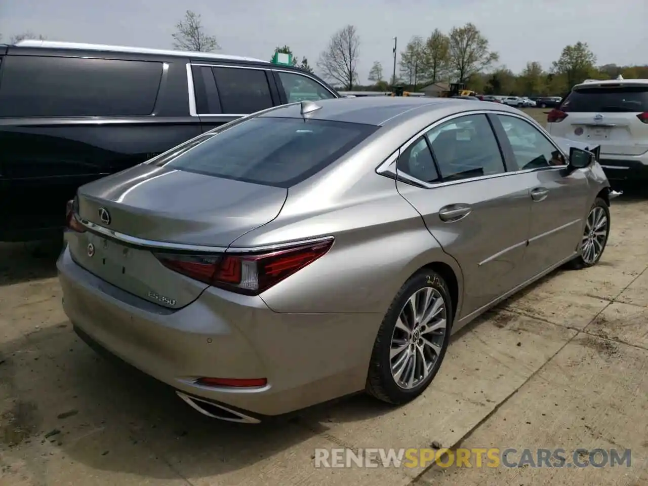
[[[562,111],[648,111],[648,86],[581,87],[562,102]]]

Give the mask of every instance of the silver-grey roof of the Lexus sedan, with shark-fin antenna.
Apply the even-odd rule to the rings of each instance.
[[[317,108],[308,118],[318,120],[364,123],[376,126],[399,124],[413,119],[422,113],[432,111],[456,110],[493,110],[488,101],[466,100],[461,98],[410,98],[410,97],[360,97],[319,100]],[[311,105],[312,106],[312,105]],[[498,106],[499,111],[518,113],[515,108]],[[292,103],[264,111],[260,117],[301,118],[301,103]]]

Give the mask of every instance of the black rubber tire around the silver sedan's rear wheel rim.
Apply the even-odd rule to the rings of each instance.
[[[445,320],[446,327],[443,334],[443,342],[439,344],[441,349],[437,355],[430,374],[426,376],[419,384],[413,388],[402,388],[397,384],[391,372],[391,358],[389,356],[391,351],[392,336],[396,327],[397,319],[400,316],[401,310],[406,305],[408,299],[422,288],[431,287],[443,299],[445,306]],[[396,297],[391,303],[387,314],[382,319],[382,324],[378,330],[378,336],[373,345],[373,353],[371,354],[371,361],[369,362],[369,373],[367,373],[367,386],[366,391],[373,395],[378,400],[388,402],[390,404],[400,405],[415,399],[428,388],[434,376],[439,371],[443,357],[445,356],[446,349],[448,349],[448,341],[450,340],[450,329],[452,329],[452,301],[450,299],[450,292],[448,286],[441,275],[432,272],[432,270],[419,270],[410,277],[410,279],[403,284]],[[438,336],[441,339],[441,336]]]

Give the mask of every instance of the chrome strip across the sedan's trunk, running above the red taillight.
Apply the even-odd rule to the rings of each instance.
[[[207,245],[196,245],[196,244],[185,244],[185,243],[172,243],[166,241],[157,241],[157,240],[148,240],[146,238],[132,237],[126,235],[126,233],[120,233],[119,231],[114,231],[113,229],[108,229],[103,226],[99,226],[91,221],[84,220],[76,214],[78,221],[86,227],[91,233],[95,233],[111,240],[117,240],[118,242],[135,246],[138,248],[147,248],[147,249],[156,249],[158,251],[195,251],[196,253],[256,253],[258,251],[273,251],[283,248],[293,248],[295,246],[307,245],[312,243],[319,243],[334,240],[332,236],[319,237],[319,238],[309,238],[307,240],[298,240],[291,242],[281,242],[269,245],[262,246],[207,246]]]

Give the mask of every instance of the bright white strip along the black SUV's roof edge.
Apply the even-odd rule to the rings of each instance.
[[[158,56],[174,56],[205,60],[226,60],[226,61],[247,61],[270,64],[262,59],[249,58],[245,56],[231,56],[228,54],[217,54],[215,52],[193,52],[193,51],[172,51],[166,49],[149,49],[148,47],[128,47],[125,45],[89,44],[79,42],[61,42],[47,40],[21,40],[14,44],[16,47],[40,47],[42,49],[63,49],[71,51],[105,51],[124,52],[128,54],[154,54]]]

